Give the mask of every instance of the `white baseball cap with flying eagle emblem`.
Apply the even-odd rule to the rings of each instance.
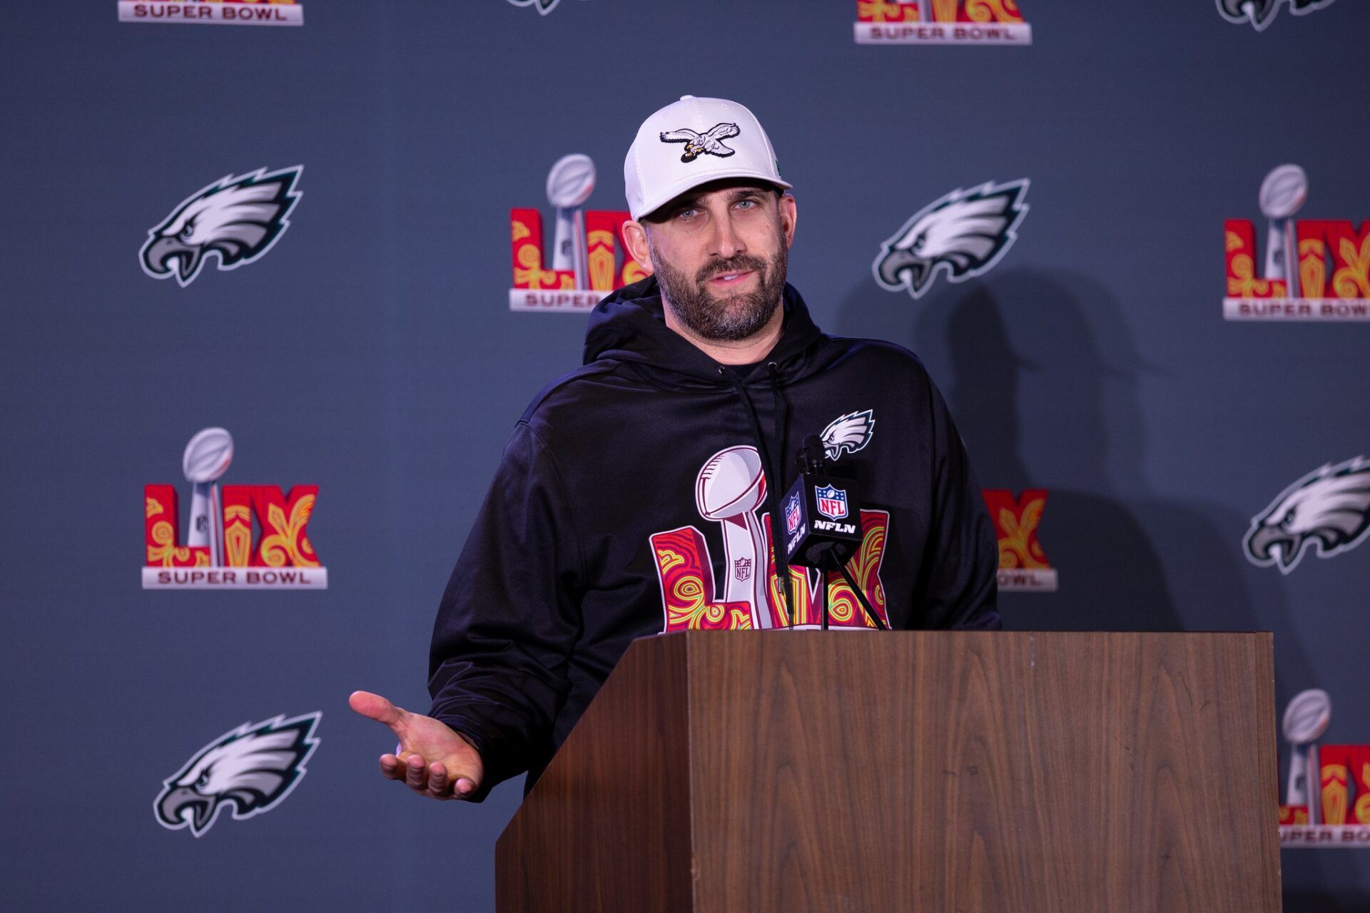
[[[759,178],[777,188],[780,166],[756,115],[726,99],[692,94],[666,105],[637,129],[623,162],[623,193],[634,219],[719,178]]]

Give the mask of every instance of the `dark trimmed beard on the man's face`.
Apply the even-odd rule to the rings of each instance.
[[[695,335],[701,339],[737,341],[745,339],[764,327],[775,308],[780,307],[785,290],[785,270],[789,266],[789,250],[784,241],[780,250],[767,261],[747,253],[730,260],[706,264],[695,274],[693,281],[684,272],[652,256],[652,270],[662,286],[666,307]],[[729,272],[756,274],[756,287],[752,292],[738,292],[718,297],[708,289],[708,281]]]

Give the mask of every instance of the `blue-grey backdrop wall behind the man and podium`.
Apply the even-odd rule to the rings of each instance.
[[[0,869],[19,906],[493,909],[521,784],[418,801],[345,701],[427,706],[433,612],[500,450],[580,363],[584,312],[510,308],[510,209],[551,234],[548,168],[573,152],[599,167],[586,205],[625,208],[637,125],[685,93],[766,125],[819,324],[918,352],[985,487],[1047,491],[1056,589],[1004,593],[1010,627],[1273,630],[1280,706],[1325,689],[1326,741],[1370,743],[1363,530],[1288,572],[1244,543],[1286,489],[1366,454],[1370,327],[1307,319],[1370,297],[1363,3],[1233,22],[1214,0],[1019,0],[1030,44],[888,47],[854,23],[904,12],[856,0],[271,4],[288,27],[134,7],[166,10],[23,4],[0,30]],[[1297,296],[1262,283],[1281,164],[1306,175],[1295,240],[1326,248]],[[182,201],[297,166],[269,249],[184,283],[149,271]],[[1019,179],[997,261],[917,297],[877,283],[914,214]],[[1273,294],[1314,304],[1240,319]],[[145,486],[178,491],[185,542],[181,456],[214,426],[225,486],[318,486],[326,589],[140,586]],[[166,780],[278,716],[310,717],[312,753],[269,813],[159,825]],[[1282,861],[1286,909],[1370,908],[1370,854]]]

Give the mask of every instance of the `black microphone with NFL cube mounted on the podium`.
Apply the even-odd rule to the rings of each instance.
[[[817,434],[804,437],[797,460],[799,478],[781,508],[785,516],[785,554],[790,565],[818,568],[822,574],[822,628],[827,630],[827,572],[840,571],[871,624],[888,630],[889,626],[870,606],[847,571],[847,563],[862,542],[856,482],[827,475],[823,441]]]

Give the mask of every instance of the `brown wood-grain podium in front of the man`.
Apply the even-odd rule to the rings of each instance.
[[[1266,632],[645,638],[497,909],[1275,912],[1275,750]]]

